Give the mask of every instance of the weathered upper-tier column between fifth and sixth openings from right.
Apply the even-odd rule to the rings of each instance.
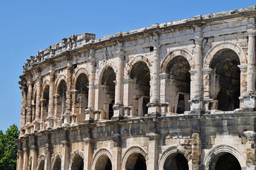
[[[66,93],[66,111],[63,115],[64,122],[63,127],[70,125],[70,114],[71,114],[71,88],[72,88],[72,64],[68,62],[67,66],[67,93]]]

